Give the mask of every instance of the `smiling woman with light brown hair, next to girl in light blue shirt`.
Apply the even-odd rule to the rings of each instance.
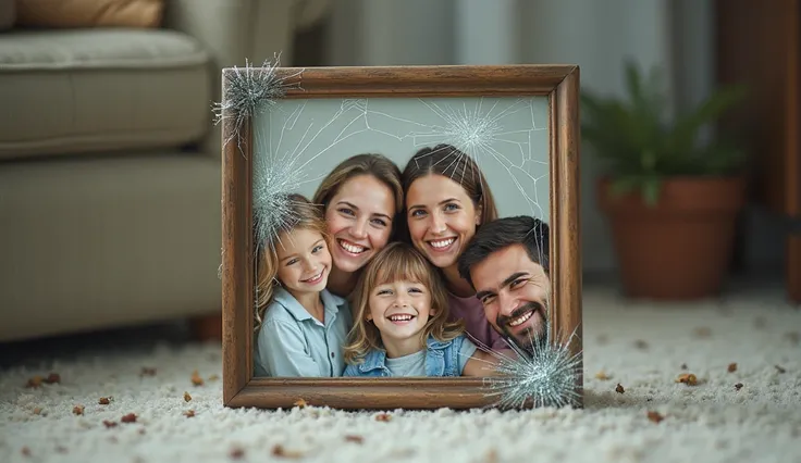
[[[312,201],[333,237],[329,291],[347,298],[361,268],[393,238],[403,209],[401,170],[381,154],[357,154],[322,180]]]

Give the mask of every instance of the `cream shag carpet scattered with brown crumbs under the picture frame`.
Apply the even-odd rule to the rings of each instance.
[[[52,351],[1,373],[0,461],[801,462],[800,309],[780,288],[665,304],[588,287],[583,410],[233,410],[218,346]]]

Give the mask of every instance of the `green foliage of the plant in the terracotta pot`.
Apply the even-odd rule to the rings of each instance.
[[[646,187],[658,185],[658,178],[722,175],[743,165],[742,150],[732,140],[718,134],[702,142],[699,134],[744,98],[744,86],[722,87],[692,111],[667,120],[668,93],[660,68],[654,66],[645,74],[633,61],[626,61],[624,79],[624,97],[587,89],[580,96],[582,139],[613,177],[637,178],[630,182],[639,182],[644,195],[658,190]]]

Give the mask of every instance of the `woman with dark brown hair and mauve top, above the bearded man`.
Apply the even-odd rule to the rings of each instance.
[[[403,172],[408,241],[445,280],[452,320],[483,346],[508,349],[486,320],[476,290],[458,272],[458,258],[476,230],[497,218],[495,201],[476,161],[451,145],[423,148]]]

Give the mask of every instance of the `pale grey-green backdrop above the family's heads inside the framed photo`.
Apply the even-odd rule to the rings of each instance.
[[[546,97],[280,99],[254,118],[254,168],[289,166],[294,190],[311,199],[354,154],[384,154],[403,171],[419,149],[446,142],[477,161],[501,216],[550,223],[547,121]]]

